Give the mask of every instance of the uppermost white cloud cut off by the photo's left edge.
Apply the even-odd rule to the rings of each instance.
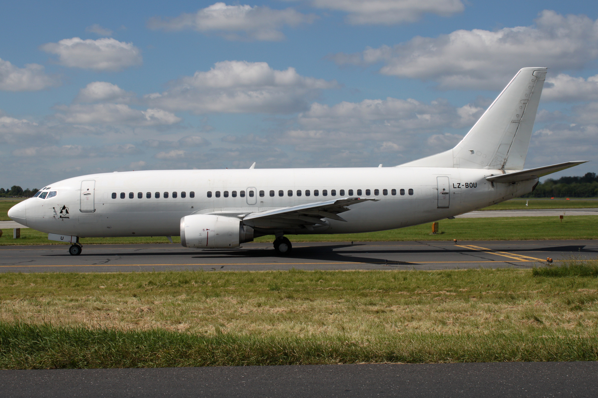
[[[0,58],[0,90],[37,91],[60,85],[56,76],[48,76],[39,64],[26,64],[20,68]]]

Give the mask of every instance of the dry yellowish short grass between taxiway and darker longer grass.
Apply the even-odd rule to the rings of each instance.
[[[596,278],[531,271],[4,274],[0,320],[351,340],[411,332],[596,335]]]

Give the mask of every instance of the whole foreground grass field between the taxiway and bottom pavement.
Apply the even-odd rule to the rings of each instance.
[[[0,300],[4,369],[598,360],[575,274],[8,273]]]

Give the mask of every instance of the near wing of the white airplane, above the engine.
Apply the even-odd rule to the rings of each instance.
[[[347,206],[367,202],[368,200],[377,202],[380,199],[341,198],[283,207],[275,210],[251,213],[243,217],[243,223],[266,228],[304,225],[307,229],[310,229],[315,225],[329,225],[328,221],[324,220],[324,218],[346,222],[347,220],[344,220],[338,214],[349,211],[350,209]]]

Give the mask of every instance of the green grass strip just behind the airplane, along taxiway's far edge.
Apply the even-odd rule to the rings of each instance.
[[[494,217],[455,218],[440,221],[440,234],[430,235],[431,224],[382,232],[338,235],[288,235],[291,242],[376,242],[394,240],[542,240],[598,239],[597,218],[593,215],[557,217]],[[173,242],[181,242],[178,236]],[[273,236],[262,236],[255,242],[273,242]],[[154,237],[90,237],[81,238],[83,245],[99,243],[167,243],[164,236]],[[0,245],[65,245],[48,240],[48,235],[22,229],[21,238],[13,239],[13,230],[2,230]]]

